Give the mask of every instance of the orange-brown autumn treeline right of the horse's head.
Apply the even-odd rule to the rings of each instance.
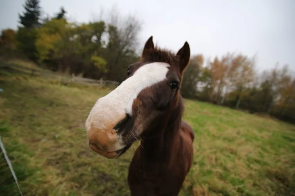
[[[295,123],[295,77],[287,65],[259,73],[255,57],[228,53],[205,66],[198,54],[184,72],[181,94]]]

